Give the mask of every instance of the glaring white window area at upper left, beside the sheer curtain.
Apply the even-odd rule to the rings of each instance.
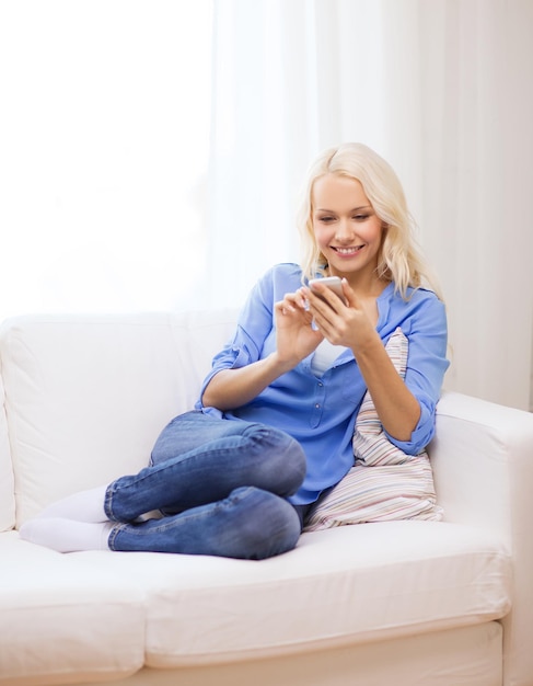
[[[2,3],[0,317],[187,298],[210,38],[209,0]]]

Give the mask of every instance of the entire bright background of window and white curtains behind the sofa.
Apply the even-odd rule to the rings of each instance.
[[[361,140],[440,277],[447,387],[528,408],[532,72],[531,0],[3,0],[0,318],[239,305]]]

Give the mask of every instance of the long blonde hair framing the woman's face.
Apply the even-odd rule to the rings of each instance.
[[[428,286],[440,297],[436,278],[416,245],[415,222],[395,171],[371,148],[359,142],[348,142],[325,150],[309,169],[297,215],[304,279],[313,278],[317,273],[323,274],[327,268],[326,259],[314,237],[312,206],[314,183],[326,174],[359,181],[376,216],[383,221],[384,236],[378,276],[394,282],[396,290],[404,299],[409,286]]]

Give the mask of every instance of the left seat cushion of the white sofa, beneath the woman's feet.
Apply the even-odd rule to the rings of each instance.
[[[142,667],[144,593],[127,576],[15,531],[0,536],[0,683],[103,681]]]

